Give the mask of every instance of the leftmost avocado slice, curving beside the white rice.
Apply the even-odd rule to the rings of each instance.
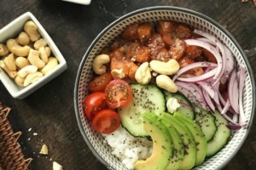
[[[143,113],[143,128],[153,140],[153,151],[148,159],[138,160],[135,169],[164,170],[172,157],[171,136],[154,113]]]

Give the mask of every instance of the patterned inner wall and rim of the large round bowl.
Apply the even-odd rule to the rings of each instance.
[[[237,62],[245,65],[247,69],[245,88],[243,89],[243,103],[249,124],[251,124],[253,119],[255,99],[252,71],[241,47],[228,31],[207,16],[184,8],[154,7],[137,10],[131,14],[126,14],[124,17],[119,18],[119,20],[114,21],[110,26],[103,30],[98,37],[96,37],[94,42],[92,42],[80,64],[74,91],[76,116],[81,133],[84,136],[84,140],[95,156],[110,169],[126,169],[126,167],[116,157],[111,155],[111,149],[108,144],[103,142],[103,138],[100,133],[96,133],[90,128],[90,122],[88,122],[83,113],[83,100],[84,96],[88,94],[87,86],[93,72],[91,63],[96,55],[101,52],[102,48],[107,47],[126,26],[135,22],[155,22],[158,20],[179,21],[189,24],[190,26],[194,26],[201,31],[207,31],[215,37],[218,37],[221,42],[230,48],[231,52],[236,57]],[[224,165],[230,161],[231,157],[236,154],[237,150],[240,149],[247,133],[247,128],[237,131],[223,150],[220,150],[217,155],[212,156],[210,159],[205,161],[200,167],[195,168],[218,169],[224,167]]]

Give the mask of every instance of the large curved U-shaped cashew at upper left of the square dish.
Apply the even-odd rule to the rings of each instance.
[[[19,57],[24,57],[29,54],[30,47],[29,46],[20,46],[15,39],[9,39],[6,42],[6,46],[9,49],[10,52],[13,54],[19,56]]]

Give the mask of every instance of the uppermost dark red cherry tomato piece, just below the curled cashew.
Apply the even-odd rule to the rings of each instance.
[[[108,85],[108,82],[113,80],[113,77],[110,72],[106,72],[102,74],[101,76],[95,77],[90,83],[89,83],[89,89],[92,92],[104,92],[106,86]]]

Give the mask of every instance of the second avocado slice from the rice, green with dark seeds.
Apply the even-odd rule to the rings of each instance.
[[[180,133],[177,132],[171,124],[168,125],[167,130],[169,131],[172,138],[172,158],[170,159],[169,164],[166,167],[166,170],[177,170],[183,163],[184,158],[184,145],[183,139],[181,138]]]

